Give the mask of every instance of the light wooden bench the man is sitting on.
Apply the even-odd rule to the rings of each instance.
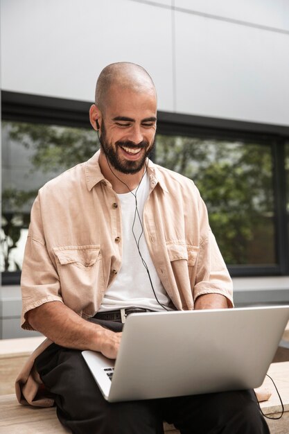
[[[14,381],[24,365],[29,354],[40,345],[43,337],[0,340],[0,432],[6,434],[58,434],[68,433],[58,421],[55,408],[35,408],[21,406],[15,397]],[[289,340],[289,323],[283,335],[283,340]],[[272,376],[283,399],[285,413],[282,419],[266,419],[271,434],[289,433],[289,361],[272,363],[268,374]],[[272,397],[261,403],[263,413],[276,417],[280,411],[277,392],[270,379],[266,378],[265,385]],[[164,424],[164,431],[168,434],[179,434],[173,425]]]

